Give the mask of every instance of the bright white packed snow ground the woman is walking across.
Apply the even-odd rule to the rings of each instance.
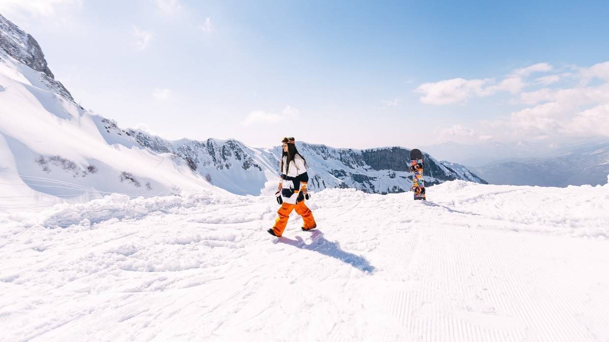
[[[608,341],[609,185],[0,212],[2,341]],[[35,209],[35,211],[33,211]]]

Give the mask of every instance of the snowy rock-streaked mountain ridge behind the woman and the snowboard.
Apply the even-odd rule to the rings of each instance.
[[[207,139],[203,142],[181,139],[171,142],[140,130],[122,130],[115,124],[111,125],[111,129],[115,134],[132,137],[136,143],[152,151],[169,152],[181,157],[192,171],[232,193],[259,194],[265,188],[267,180],[268,190],[274,192],[276,183],[272,177],[279,174],[280,146],[271,149],[252,148],[234,139]],[[297,147],[307,160],[309,186],[312,190],[355,188],[367,193],[387,194],[408,191],[412,186],[408,170],[410,149],[397,146],[333,148],[305,142],[297,142]],[[424,178],[428,185],[454,179],[485,183],[471,171],[456,172],[428,154],[424,154],[424,161]],[[234,183],[231,180],[234,177],[255,184],[249,186],[242,182]]]

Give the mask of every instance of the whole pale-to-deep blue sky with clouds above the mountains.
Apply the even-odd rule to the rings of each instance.
[[[605,1],[2,0],[0,13],[85,108],[167,139],[609,134]]]

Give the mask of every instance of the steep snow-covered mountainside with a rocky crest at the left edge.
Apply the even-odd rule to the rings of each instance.
[[[115,192],[155,196],[213,188],[172,154],[116,140],[102,129],[104,118],[74,103],[53,79],[31,36],[2,16],[0,33],[3,208]]]

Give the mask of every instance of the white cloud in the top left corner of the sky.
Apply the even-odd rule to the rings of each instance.
[[[82,0],[1,0],[0,13],[10,20],[13,17],[32,16],[35,18],[58,15],[58,9],[65,6],[82,6]]]

